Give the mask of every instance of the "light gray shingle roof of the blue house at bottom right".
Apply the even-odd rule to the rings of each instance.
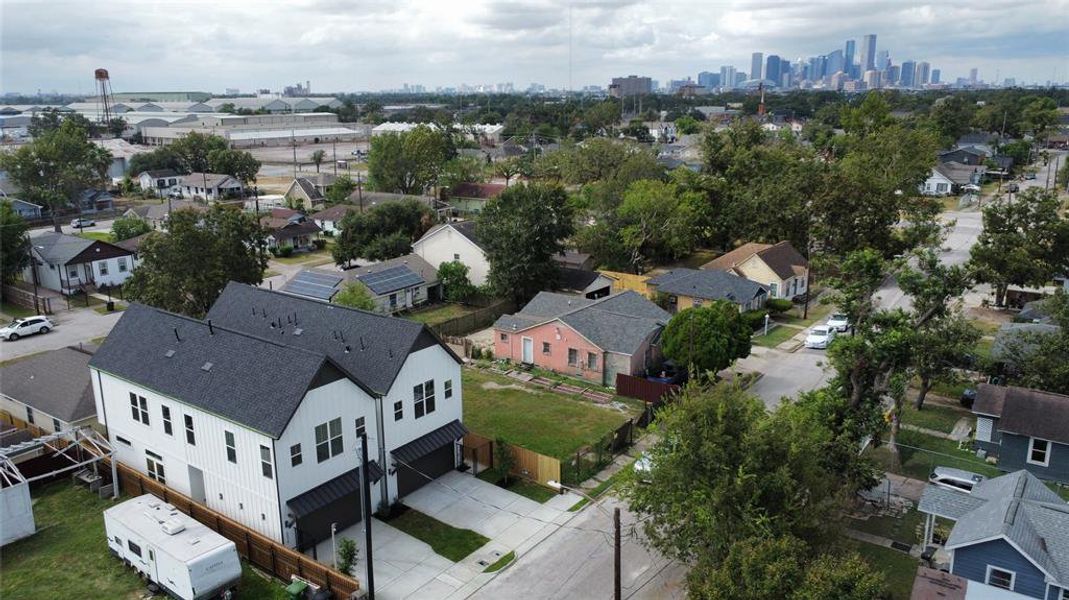
[[[1018,471],[986,479],[972,494],[945,491],[971,496],[967,502],[977,503],[957,518],[946,541],[948,550],[1006,538],[1055,583],[1069,585],[1069,505],[1035,475]],[[928,490],[925,495],[929,495]],[[919,508],[929,511],[925,496]],[[928,508],[932,508],[931,503]]]

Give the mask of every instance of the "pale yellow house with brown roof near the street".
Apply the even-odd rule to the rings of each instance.
[[[743,244],[701,268],[733,273],[766,286],[770,298],[793,298],[804,294],[809,280],[809,262],[790,242]]]

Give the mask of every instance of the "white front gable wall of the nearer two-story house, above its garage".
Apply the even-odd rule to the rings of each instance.
[[[278,493],[282,506],[282,521],[291,521],[285,503],[321,483],[329,481],[360,465],[360,441],[356,436],[356,419],[363,417],[368,432],[369,459],[375,460],[378,432],[375,429],[375,401],[368,393],[347,379],[338,380],[310,390],[300,407],[294,413],[285,431],[275,443],[278,460]],[[315,453],[315,427],[341,419],[342,452],[323,462]],[[300,464],[292,465],[290,448],[300,444]],[[257,466],[257,473],[260,466]],[[377,503],[377,486],[372,489],[372,509]],[[296,532],[285,528],[282,542],[296,545]]]

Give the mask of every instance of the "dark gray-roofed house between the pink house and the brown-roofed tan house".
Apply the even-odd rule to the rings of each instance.
[[[766,287],[725,271],[673,268],[650,277],[646,283],[668,294],[672,312],[718,299],[738,305],[740,311],[754,310],[764,306],[769,297]]]

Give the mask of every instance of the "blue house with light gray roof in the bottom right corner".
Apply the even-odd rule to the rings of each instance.
[[[918,510],[955,521],[944,549],[966,600],[1069,599],[1069,505],[1027,471],[972,493],[928,486]]]

